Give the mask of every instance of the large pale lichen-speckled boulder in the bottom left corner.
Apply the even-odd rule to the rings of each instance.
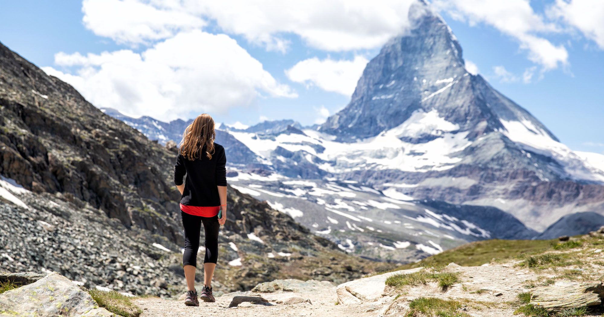
[[[115,316],[68,278],[52,272],[0,294],[0,316]]]

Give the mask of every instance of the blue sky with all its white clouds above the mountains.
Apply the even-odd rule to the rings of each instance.
[[[313,124],[347,104],[364,63],[408,23],[411,0],[344,2],[11,1],[0,41],[97,106]],[[464,58],[570,148],[604,152],[604,2],[471,2],[432,1]]]

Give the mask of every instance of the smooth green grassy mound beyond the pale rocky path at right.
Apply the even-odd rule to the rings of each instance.
[[[426,257],[417,263],[408,263],[393,269],[430,268],[446,266],[455,262],[461,266],[479,266],[490,263],[493,259],[498,261],[512,260],[521,256],[543,253],[551,250],[554,240],[483,240],[458,246],[434,256]]]

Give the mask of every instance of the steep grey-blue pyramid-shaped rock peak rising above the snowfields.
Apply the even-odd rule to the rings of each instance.
[[[528,111],[467,72],[461,46],[439,14],[418,3],[409,15],[411,30],[388,41],[367,64],[350,103],[330,116],[321,132],[353,142],[435,111],[436,118],[457,125],[457,132],[467,132],[469,140],[506,131],[510,121],[528,122],[556,140]]]

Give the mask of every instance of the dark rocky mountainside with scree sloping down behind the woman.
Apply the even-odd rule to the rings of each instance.
[[[2,44],[0,114],[3,270],[58,271],[129,293],[183,289],[173,149]],[[216,272],[222,291],[289,275],[344,281],[380,265],[232,187],[228,202]]]

